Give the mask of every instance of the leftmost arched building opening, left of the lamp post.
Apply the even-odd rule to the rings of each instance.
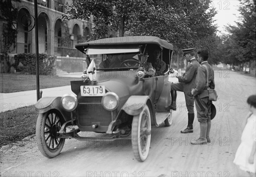
[[[17,53],[30,53],[32,41],[32,29],[35,24],[34,19],[25,8],[20,9],[17,16]]]

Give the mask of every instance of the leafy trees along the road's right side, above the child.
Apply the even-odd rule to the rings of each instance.
[[[256,66],[256,0],[240,0],[240,17],[236,26],[226,26],[229,32],[222,36],[216,56],[222,63],[230,64],[230,69],[242,70]]]

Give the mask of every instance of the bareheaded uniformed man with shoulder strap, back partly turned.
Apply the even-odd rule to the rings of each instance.
[[[201,66],[198,68],[196,87],[195,89],[192,89],[191,94],[193,94],[195,97],[195,107],[197,110],[198,122],[200,123],[200,137],[191,142],[191,144],[194,145],[207,144],[207,142],[211,142],[209,133],[211,128],[212,101],[209,100],[209,91],[207,89],[214,89],[215,83],[212,66],[209,65],[207,60],[208,51],[206,49],[201,49],[198,51],[198,62],[201,63]]]

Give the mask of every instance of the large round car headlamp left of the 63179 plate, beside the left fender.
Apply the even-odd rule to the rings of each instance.
[[[72,94],[64,94],[61,97],[61,105],[67,111],[73,111],[76,109],[78,104],[77,98]]]

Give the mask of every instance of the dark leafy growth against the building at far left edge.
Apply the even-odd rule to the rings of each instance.
[[[14,0],[20,2],[20,0]],[[7,72],[10,72],[11,63],[9,61],[8,52],[13,45],[15,48],[17,30],[12,29],[12,21],[16,20],[18,11],[12,4],[11,0],[0,0],[0,21],[3,21],[3,33],[1,37],[1,53],[4,55],[4,60],[7,63]]]

